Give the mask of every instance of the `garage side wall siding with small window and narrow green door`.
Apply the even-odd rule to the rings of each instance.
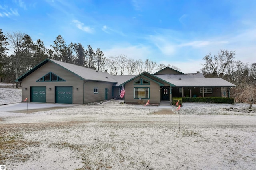
[[[105,89],[108,89],[108,100],[112,99],[113,83],[85,81],[84,82],[84,104],[105,100]],[[98,88],[98,93],[94,93],[94,88]]]

